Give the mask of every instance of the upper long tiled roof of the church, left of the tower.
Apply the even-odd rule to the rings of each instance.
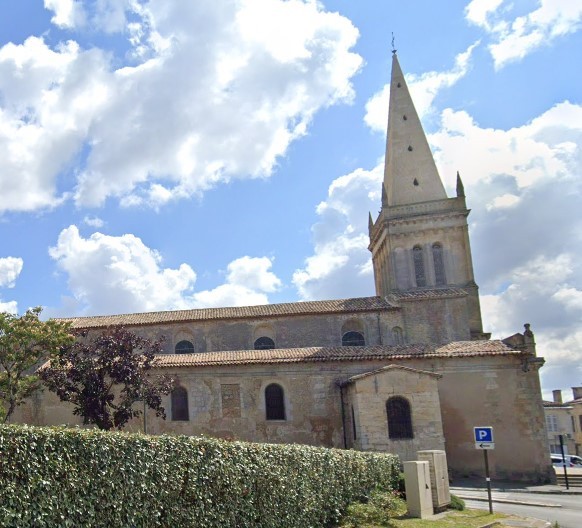
[[[390,304],[383,297],[356,297],[353,299],[263,304],[259,306],[233,306],[230,308],[200,308],[167,312],[71,317],[59,320],[71,322],[73,328],[106,328],[112,325],[142,326],[187,321],[277,317],[281,315],[370,312],[388,309],[398,308]]]

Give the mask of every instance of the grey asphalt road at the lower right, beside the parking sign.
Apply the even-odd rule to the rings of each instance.
[[[457,494],[456,492],[454,492]],[[487,498],[486,491],[463,491],[460,497],[479,496]],[[531,504],[507,504],[495,502],[495,499],[509,499]],[[463,499],[468,508],[488,510],[488,503],[476,500]],[[523,517],[534,517],[554,523],[558,521],[560,528],[582,528],[582,495],[549,495],[538,493],[504,493],[493,492],[493,511],[512,513]],[[547,506],[538,506],[545,504]],[[554,507],[552,507],[554,506]],[[561,506],[561,507],[555,507]]]

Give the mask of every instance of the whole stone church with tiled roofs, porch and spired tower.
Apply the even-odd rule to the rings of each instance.
[[[451,472],[482,475],[473,428],[492,426],[493,478],[550,480],[529,325],[483,332],[461,179],[449,198],[396,54],[382,209],[370,215],[375,297],[71,319],[165,336],[157,370],[177,380],[147,432],[397,453],[445,449]],[[47,391],[23,421],[80,423]],[[131,424],[134,430],[142,421]]]

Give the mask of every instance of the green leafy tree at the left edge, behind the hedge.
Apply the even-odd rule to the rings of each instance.
[[[41,321],[42,308],[21,317],[0,313],[0,420],[7,422],[16,407],[40,387],[34,366],[62,345],[72,343],[70,326],[49,319]]]

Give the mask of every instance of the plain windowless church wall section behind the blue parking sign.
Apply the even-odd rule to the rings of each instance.
[[[473,427],[492,426],[489,453],[497,479],[551,481],[549,446],[537,367],[510,357],[438,360],[441,410],[449,466],[455,476],[483,476]]]

